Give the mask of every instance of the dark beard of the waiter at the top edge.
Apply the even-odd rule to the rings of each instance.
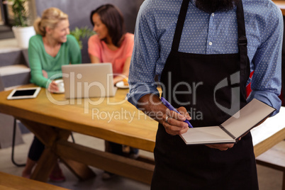
[[[230,11],[240,0],[196,0],[196,6],[206,13]]]

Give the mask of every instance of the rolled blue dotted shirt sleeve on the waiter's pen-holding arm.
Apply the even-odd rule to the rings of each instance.
[[[138,100],[146,94],[156,94],[155,67],[160,57],[160,46],[155,31],[155,21],[148,14],[148,3],[144,2],[138,13],[135,26],[135,43],[130,62],[128,101],[138,108]]]

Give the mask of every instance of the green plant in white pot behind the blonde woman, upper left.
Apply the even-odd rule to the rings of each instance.
[[[19,47],[27,48],[30,37],[35,35],[33,26],[29,23],[29,13],[26,4],[29,0],[9,0],[13,12],[13,33]]]

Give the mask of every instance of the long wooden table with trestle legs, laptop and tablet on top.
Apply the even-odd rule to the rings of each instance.
[[[94,175],[87,167],[91,165],[150,184],[154,169],[151,160],[131,160],[67,141],[74,131],[153,152],[157,122],[125,100],[128,90],[118,89],[115,97],[101,100],[67,100],[63,94],[49,94],[45,89],[36,99],[6,100],[9,93],[0,92],[0,112],[18,118],[46,146],[32,179],[46,181],[60,157],[79,179]],[[281,108],[277,116],[255,128],[256,155],[285,138],[285,108]],[[263,128],[274,130],[272,133],[260,133]]]

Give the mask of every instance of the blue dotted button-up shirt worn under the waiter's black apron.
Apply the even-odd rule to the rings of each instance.
[[[135,26],[135,45],[130,64],[128,101],[138,106],[145,94],[157,94],[155,76],[162,69],[172,47],[174,30],[182,0],[145,0]],[[280,9],[269,0],[242,0],[253,98],[276,108],[281,101],[281,45],[283,18]],[[238,52],[236,8],[227,12],[205,13],[194,0],[184,23],[179,52],[195,54],[231,54]],[[230,63],[229,63],[230,64]],[[197,71],[203,74],[203,71]],[[250,79],[249,81],[250,82]]]

